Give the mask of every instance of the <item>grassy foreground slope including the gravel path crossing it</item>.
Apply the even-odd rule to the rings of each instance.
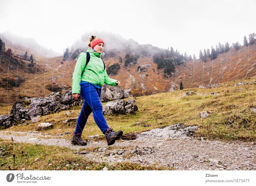
[[[244,83],[239,84],[241,81]],[[63,121],[77,118],[81,106],[70,109],[69,114],[61,111],[41,116],[34,123],[20,121],[0,130],[0,169],[256,170],[255,91],[256,79],[246,78],[216,88],[136,97],[138,111],[134,114],[105,115],[114,130],[136,135],[136,139],[121,139],[111,146],[92,115],[83,130],[88,144],[71,145],[76,121]],[[36,131],[38,124],[45,122],[53,128]],[[17,155],[15,165],[12,154]]]

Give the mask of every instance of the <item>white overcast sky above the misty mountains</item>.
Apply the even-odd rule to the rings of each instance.
[[[62,53],[84,32],[99,30],[198,57],[200,48],[256,33],[255,7],[255,0],[0,0],[0,32]]]

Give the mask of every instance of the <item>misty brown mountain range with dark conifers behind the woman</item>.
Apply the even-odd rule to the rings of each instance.
[[[151,44],[141,45],[137,41],[126,40],[116,34],[96,33],[95,35],[104,38],[106,42],[102,59],[109,77],[119,80],[121,87],[134,96],[179,90],[180,82],[183,83],[184,88],[194,88],[209,83],[218,84],[256,76],[255,43],[249,44],[248,47],[241,46],[238,50],[232,47],[230,51],[218,55],[216,59],[211,60],[207,57],[206,62],[203,62],[201,59],[189,59]],[[29,73],[26,65],[23,69],[10,67],[8,69],[8,65],[10,66],[8,61],[2,63],[0,66],[2,82],[6,81],[6,77],[15,79],[16,76],[20,76],[25,79],[19,87],[9,86],[7,89],[0,86],[2,106],[7,106],[8,103],[12,105],[15,100],[22,97],[47,96],[52,91],[71,88],[76,57],[81,51],[87,50],[86,38],[90,36],[91,34],[84,33],[81,40],[73,44],[65,60],[62,55],[54,57],[39,55],[36,49],[30,46],[31,51],[35,52],[33,56],[36,59],[34,64],[36,69],[32,73]],[[11,42],[9,40],[5,42],[7,49],[11,46]],[[22,57],[25,51],[30,49],[23,45],[22,52],[19,53],[18,48],[21,48],[21,45],[16,43],[12,48],[16,51],[17,58]],[[25,61],[25,63],[28,66],[30,62]]]

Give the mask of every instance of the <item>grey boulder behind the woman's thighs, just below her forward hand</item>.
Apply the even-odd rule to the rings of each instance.
[[[109,100],[124,99],[129,96],[130,94],[124,91],[121,87],[104,84],[101,88],[100,100],[105,102]]]

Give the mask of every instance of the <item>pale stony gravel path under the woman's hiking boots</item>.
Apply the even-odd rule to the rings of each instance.
[[[89,140],[86,146],[72,145],[57,136],[39,131],[0,131],[0,138],[16,142],[56,145],[77,150],[90,160],[116,163],[130,161],[142,165],[170,166],[174,170],[256,170],[255,142],[225,142],[192,137],[196,126],[177,123],[137,134],[134,140],[117,140],[107,146],[105,140]],[[90,151],[80,150],[95,147]],[[111,147],[111,148],[109,148]]]

